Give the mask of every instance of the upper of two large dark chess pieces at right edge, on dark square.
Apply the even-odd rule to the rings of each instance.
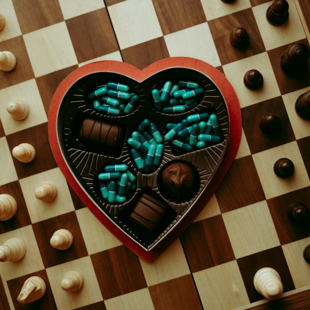
[[[281,56],[281,68],[285,73],[298,74],[307,68],[309,48],[301,43],[291,44]]]

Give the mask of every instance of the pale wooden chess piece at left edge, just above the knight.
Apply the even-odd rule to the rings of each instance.
[[[0,246],[0,262],[15,262],[24,257],[26,246],[19,238],[10,238]]]

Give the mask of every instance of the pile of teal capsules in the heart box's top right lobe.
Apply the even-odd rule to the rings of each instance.
[[[204,89],[199,83],[192,81],[165,82],[161,90],[153,89],[152,96],[157,110],[167,113],[181,113],[195,107],[197,96],[202,95]]]

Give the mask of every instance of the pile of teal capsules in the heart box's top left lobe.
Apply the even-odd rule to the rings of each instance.
[[[131,113],[139,102],[139,96],[130,93],[128,85],[115,82],[97,86],[87,98],[93,101],[95,110],[112,116]]]

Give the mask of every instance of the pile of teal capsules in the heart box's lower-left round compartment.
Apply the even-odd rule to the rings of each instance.
[[[98,175],[100,193],[109,203],[123,203],[126,196],[136,189],[135,175],[126,164],[108,165]]]

